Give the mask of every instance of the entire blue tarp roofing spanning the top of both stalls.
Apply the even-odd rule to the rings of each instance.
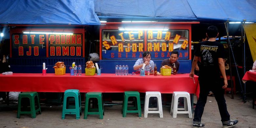
[[[256,22],[256,0],[1,0],[0,24],[99,25],[98,18]]]

